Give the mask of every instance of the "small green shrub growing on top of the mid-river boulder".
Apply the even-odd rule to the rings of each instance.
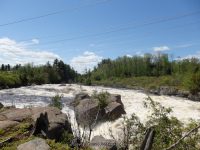
[[[108,98],[110,94],[108,92],[100,92],[96,91],[93,93],[92,97],[98,100],[98,104],[100,108],[105,108],[108,105]]]

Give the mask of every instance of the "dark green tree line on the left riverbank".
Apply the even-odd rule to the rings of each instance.
[[[33,64],[12,66],[2,64],[0,87],[12,88],[31,84],[55,84],[75,82],[78,73],[62,60],[55,59],[53,64],[34,66]]]

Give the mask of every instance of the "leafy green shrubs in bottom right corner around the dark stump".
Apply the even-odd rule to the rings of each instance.
[[[148,121],[142,124],[135,116],[124,120],[123,133],[125,138],[121,143],[125,147],[131,146],[133,150],[139,149],[144,138],[145,130],[153,128],[155,130],[155,138],[153,142],[153,150],[166,149],[177,142],[186,132],[198,126],[198,122],[190,121],[184,125],[180,120],[170,116],[171,108],[165,108],[160,103],[153,101],[150,97],[144,103],[145,108],[149,110]],[[189,137],[183,139],[177,146],[176,150],[198,150],[200,133],[195,131]]]

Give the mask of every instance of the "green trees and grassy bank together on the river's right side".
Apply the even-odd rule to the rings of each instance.
[[[200,91],[200,60],[174,60],[168,54],[104,59],[84,79],[85,83],[124,88],[172,86],[196,94]]]

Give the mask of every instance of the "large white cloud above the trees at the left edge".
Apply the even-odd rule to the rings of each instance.
[[[32,42],[39,42],[36,39]],[[58,55],[48,51],[35,51],[27,47],[26,43],[18,43],[9,38],[0,38],[0,64],[44,64],[60,58]]]

